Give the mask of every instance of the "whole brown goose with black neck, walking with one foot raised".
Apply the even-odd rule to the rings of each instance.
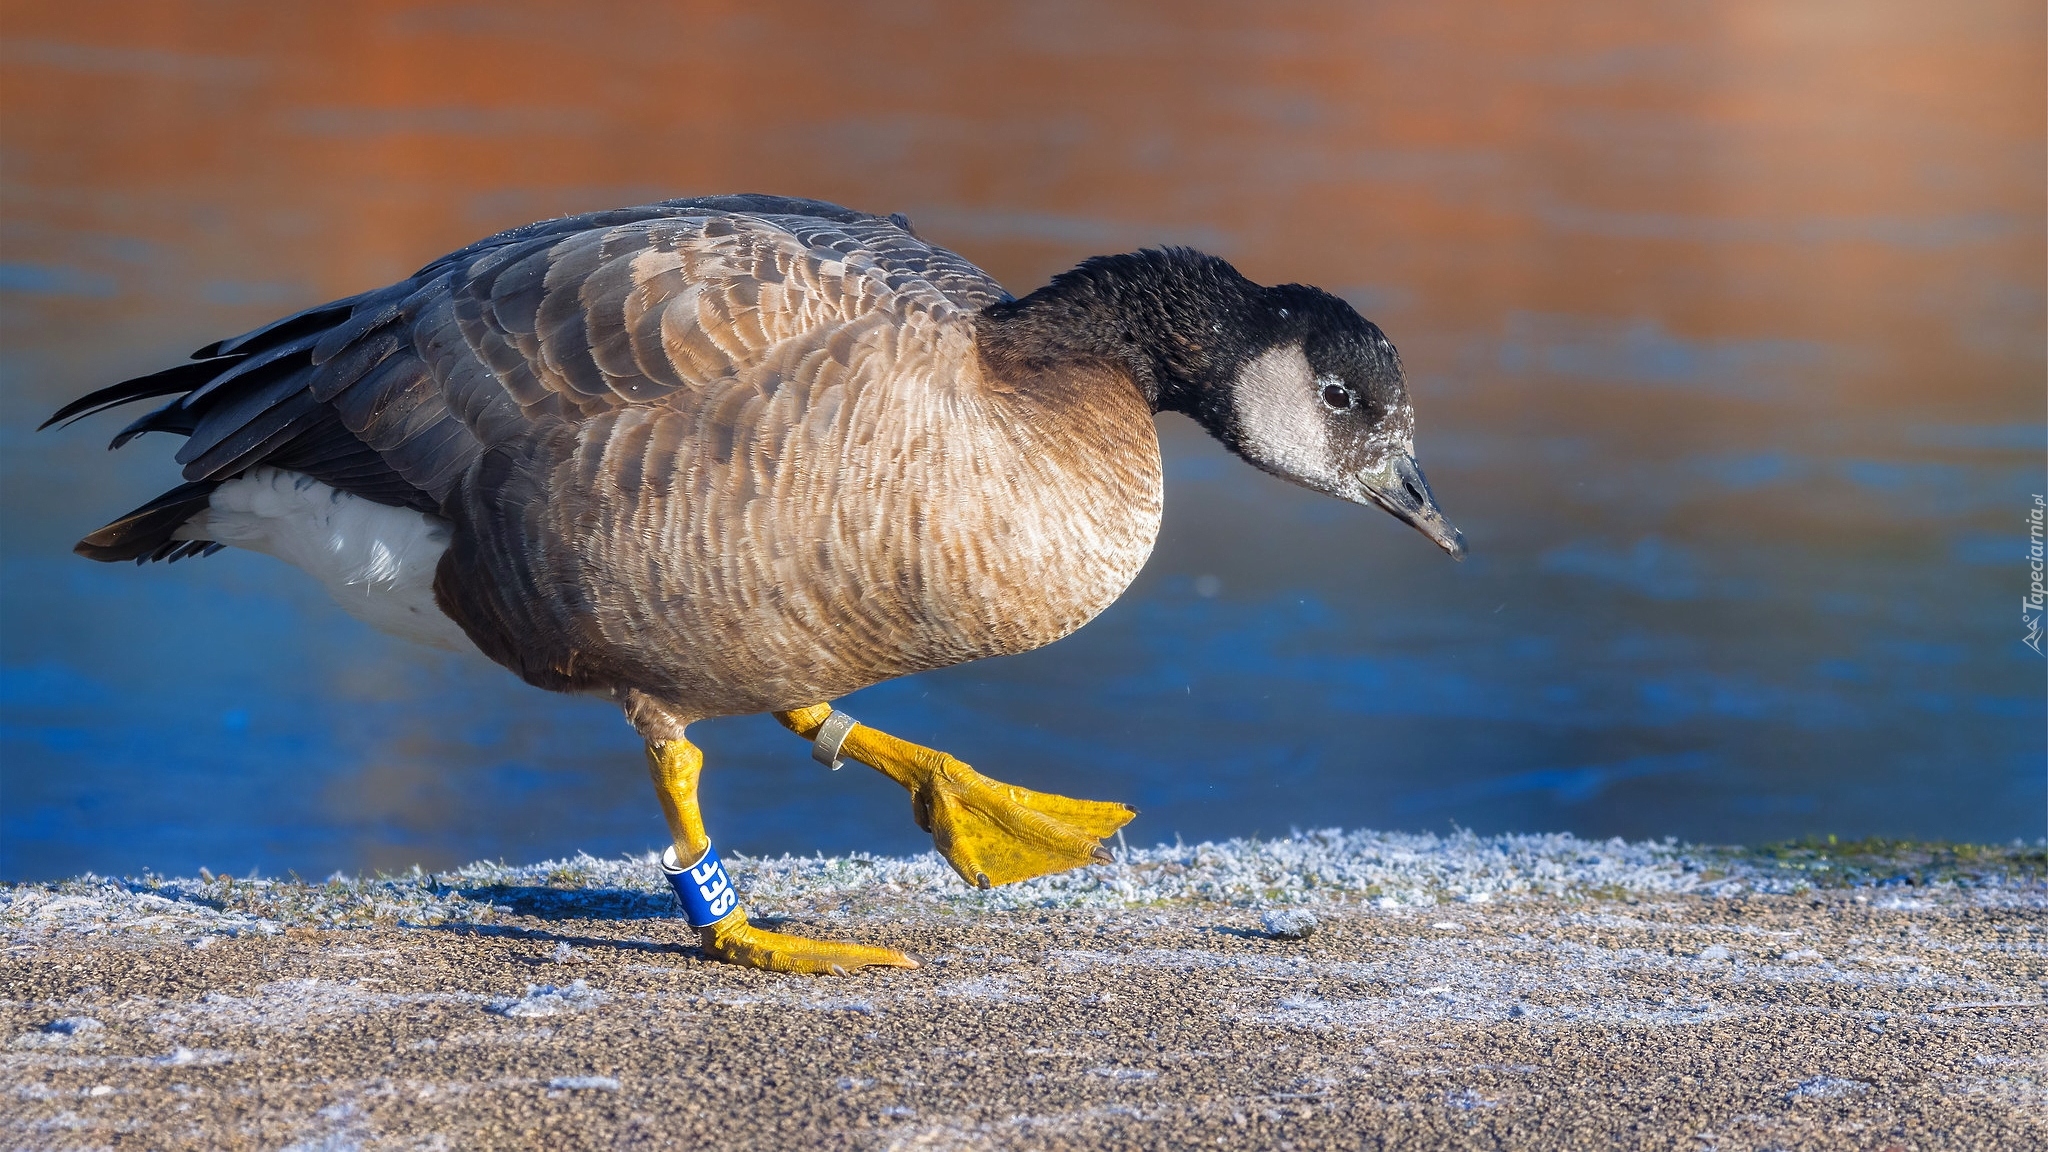
[[[702,951],[770,972],[918,961],[748,920],[696,801],[698,719],[772,713],[819,763],[889,775],[967,883],[1110,861],[1128,806],[993,781],[831,701],[1116,601],[1159,535],[1155,414],[1464,553],[1401,357],[1339,297],[1159,248],[1018,299],[903,215],[807,199],[500,232],[45,428],[147,398],[170,400],[111,447],[176,433],[184,484],[80,556],[270,553],[379,629],[616,701]]]

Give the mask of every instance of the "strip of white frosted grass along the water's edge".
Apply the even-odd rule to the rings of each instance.
[[[918,857],[727,857],[748,908],[764,916],[918,916],[1024,908],[1425,908],[1518,898],[1622,900],[1802,892],[1843,886],[1989,888],[2040,896],[2042,845],[1778,845],[1708,849],[1675,840],[1569,834],[1452,836],[1303,832],[1280,840],[1159,845],[1085,867],[977,892],[936,853]],[[473,863],[426,873],[299,879],[86,875],[0,890],[0,931],[16,943],[51,933],[211,937],[291,927],[489,922],[502,916],[668,918],[655,855],[537,865]]]

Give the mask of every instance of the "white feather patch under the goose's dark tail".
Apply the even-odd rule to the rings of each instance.
[[[379,631],[475,652],[434,605],[434,566],[449,551],[449,525],[426,512],[258,467],[215,488],[211,506],[176,537],[274,556],[319,580],[334,603]]]

